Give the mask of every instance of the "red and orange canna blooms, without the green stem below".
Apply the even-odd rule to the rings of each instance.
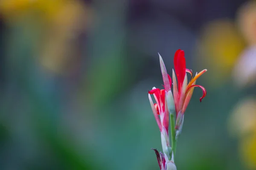
[[[198,74],[196,73],[195,77],[193,77],[192,70],[189,70],[188,68],[186,68],[186,59],[184,55],[185,54],[183,50],[179,49],[176,51],[174,56],[175,71],[172,70],[173,100],[174,100],[175,111],[176,111],[176,119],[178,117],[177,116],[178,113],[183,115],[184,112],[186,111],[186,108],[189,104],[189,101],[192,97],[195,87],[199,87],[203,91],[203,96],[200,98],[200,102],[206,96],[205,88],[201,85],[196,85],[195,82],[196,82],[196,79],[198,79],[198,77],[200,77],[202,74],[204,74],[204,72],[207,71],[207,69],[204,69]],[[168,133],[169,111],[167,109],[166,93],[171,92],[170,90],[172,87],[172,79],[169,76],[169,74],[167,74],[166,67],[164,65],[163,59],[160,56],[160,54],[159,54],[159,57],[160,57],[160,67],[161,67],[165,89],[160,90],[159,88],[153,88],[151,91],[148,91],[148,97],[149,97],[151,108],[153,110],[153,113],[160,131],[162,131],[162,127],[165,127]],[[191,74],[191,79],[189,82],[187,80],[186,72]],[[175,73],[177,76],[177,81],[176,81]],[[150,94],[154,94],[154,98],[157,103],[153,104]],[[160,119],[158,115],[160,115]]]

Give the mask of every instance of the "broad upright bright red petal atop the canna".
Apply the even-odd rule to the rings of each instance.
[[[184,56],[184,51],[180,49],[174,55],[174,69],[177,76],[179,93],[186,74],[186,59]]]

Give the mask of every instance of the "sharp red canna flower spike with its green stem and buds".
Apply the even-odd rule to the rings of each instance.
[[[174,56],[174,68],[172,70],[172,78],[167,74],[166,67],[163,59],[159,54],[160,68],[163,76],[164,89],[153,87],[151,91],[148,91],[148,98],[154,117],[157,121],[157,125],[161,132],[161,141],[163,147],[163,153],[158,153],[154,149],[157,155],[157,161],[161,170],[176,170],[174,164],[174,157],[176,152],[176,141],[180,135],[183,125],[184,112],[189,104],[195,87],[199,87],[203,91],[201,100],[206,96],[206,90],[201,85],[196,85],[195,82],[204,72],[207,70],[196,73],[193,77],[192,70],[186,68],[186,59],[184,57],[183,50],[177,50]],[[177,80],[176,80],[176,76]],[[191,75],[188,82],[186,73]],[[173,94],[172,94],[173,85]],[[151,94],[154,95],[156,103],[153,103]],[[174,119],[174,112],[176,113],[176,123]],[[171,120],[171,135],[172,135],[172,147],[169,142],[169,114]]]

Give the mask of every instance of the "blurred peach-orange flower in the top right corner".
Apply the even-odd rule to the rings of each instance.
[[[245,3],[238,11],[239,28],[249,45],[256,45],[256,1]]]

